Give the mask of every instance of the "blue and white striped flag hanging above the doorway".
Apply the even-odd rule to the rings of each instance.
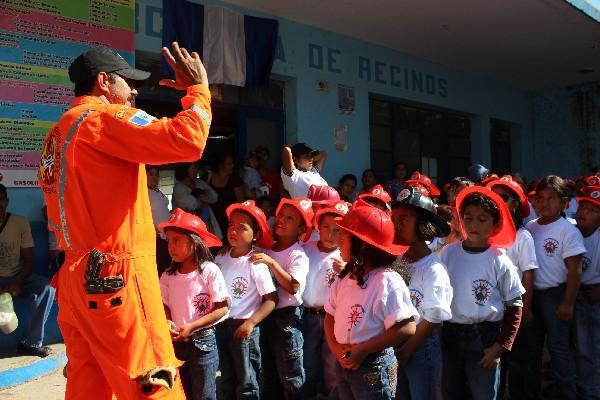
[[[179,42],[201,55],[210,83],[260,86],[269,82],[277,20],[187,0],[163,0],[163,46]],[[163,60],[163,73],[173,70]]]

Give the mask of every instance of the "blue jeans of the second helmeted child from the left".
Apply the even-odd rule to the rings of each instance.
[[[217,326],[221,391],[225,400],[259,399],[260,328],[254,327],[250,337],[233,337],[243,320],[227,319]]]

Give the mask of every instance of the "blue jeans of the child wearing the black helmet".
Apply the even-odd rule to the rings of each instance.
[[[398,368],[396,400],[435,400],[442,369],[442,345],[437,332],[416,349],[404,368]]]

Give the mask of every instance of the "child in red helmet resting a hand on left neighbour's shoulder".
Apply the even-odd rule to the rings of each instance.
[[[299,241],[312,230],[310,199],[281,199],[275,212],[275,243],[254,253],[253,263],[264,263],[277,283],[278,303],[263,322],[261,335],[265,398],[300,399],[304,386],[302,293],[306,287],[308,257]]]

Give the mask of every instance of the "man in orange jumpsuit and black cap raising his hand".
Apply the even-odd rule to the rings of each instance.
[[[77,96],[46,136],[39,182],[65,262],[57,276],[67,399],[183,399],[155,261],[144,164],[195,161],[211,122],[206,71],[177,43],[163,55],[183,111],[132,107],[147,72],[92,48],[69,67]],[[56,280],[56,279],[55,279]]]

